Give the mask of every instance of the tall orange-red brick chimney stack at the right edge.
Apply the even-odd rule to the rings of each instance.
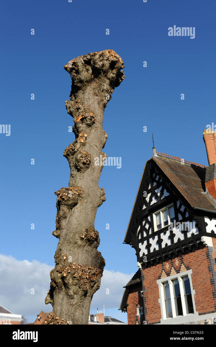
[[[212,129],[203,130],[209,166],[206,168],[205,186],[208,193],[216,200],[216,133]]]

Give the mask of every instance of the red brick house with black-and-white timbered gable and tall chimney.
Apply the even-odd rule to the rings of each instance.
[[[120,309],[128,324],[216,323],[216,134],[209,166],[156,152],[144,167],[124,243],[138,272]]]

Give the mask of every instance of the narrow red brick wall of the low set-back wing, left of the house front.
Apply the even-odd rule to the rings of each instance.
[[[140,283],[138,285],[131,286],[128,289],[130,290],[130,293],[127,299],[127,324],[140,324],[140,318],[136,308],[139,307],[139,304],[141,307],[143,307],[143,301],[140,293],[142,290],[142,284]]]

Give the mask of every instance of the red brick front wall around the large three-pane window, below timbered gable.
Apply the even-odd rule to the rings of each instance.
[[[214,252],[211,253],[211,256],[214,259],[216,257],[216,239],[213,239],[213,242]],[[164,263],[161,262],[155,266],[143,269],[144,289],[147,290],[144,293],[146,297],[145,308],[147,311],[145,320],[147,320],[147,324],[160,322],[161,319],[157,280],[172,276],[178,270],[184,272],[192,269],[191,280],[196,293],[194,295],[196,311],[203,314],[209,311],[215,311],[216,298],[213,298],[212,294],[214,287],[210,283],[211,273],[208,269],[209,259],[206,258],[207,250],[207,247],[196,249],[191,253],[182,254],[182,256],[173,257],[173,259]],[[211,264],[213,264],[212,261]],[[212,266],[216,271],[216,266],[214,264]],[[135,298],[135,294],[133,294],[133,298]]]

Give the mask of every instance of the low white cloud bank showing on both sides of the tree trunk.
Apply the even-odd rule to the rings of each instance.
[[[13,256],[0,254],[0,305],[8,310],[25,315],[29,322],[36,319],[37,314],[52,311],[50,304],[44,300],[50,287],[50,271],[53,266],[40,263],[37,260],[17,260]],[[90,313],[96,313],[97,307],[103,309],[106,315],[113,309],[118,309],[124,293],[123,286],[133,274],[104,270],[100,289],[94,294]],[[34,295],[31,289],[34,289]],[[109,294],[106,294],[109,289]],[[108,292],[108,291],[107,291]],[[119,311],[116,311],[116,314]],[[117,318],[117,317],[116,317]]]

